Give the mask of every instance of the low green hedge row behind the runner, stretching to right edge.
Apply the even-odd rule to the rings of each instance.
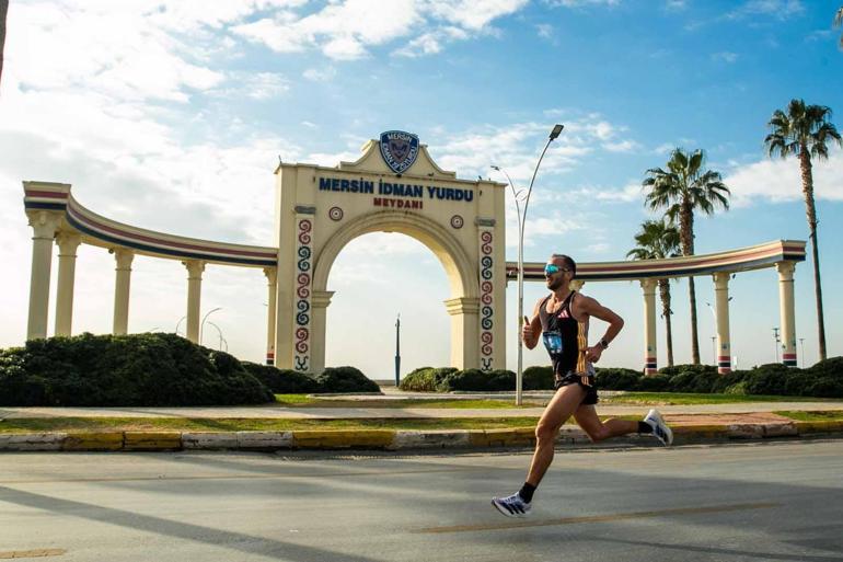
[[[843,357],[832,357],[808,369],[771,364],[728,375],[718,375],[711,365],[665,367],[649,377],[638,370],[598,368],[597,381],[607,390],[843,398]],[[422,367],[404,377],[400,388],[428,392],[515,390],[516,375],[510,370]],[[553,389],[552,368],[524,369],[523,389]]]

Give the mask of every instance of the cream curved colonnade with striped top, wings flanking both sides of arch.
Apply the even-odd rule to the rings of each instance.
[[[30,219],[30,226],[33,228],[27,340],[47,336],[49,278],[54,244],[59,248],[55,335],[70,335],[76,255],[79,244],[85,243],[107,249],[115,256],[113,326],[115,334],[127,332],[131,262],[136,254],[178,260],[184,264],[187,269],[186,335],[193,342],[199,341],[201,276],[206,264],[263,268],[268,282],[269,303],[266,334],[267,363],[273,364],[277,308],[277,248],[212,242],[145,230],[109,220],[85,209],[73,199],[69,184],[23,182],[23,186],[24,207]],[[362,231],[373,230],[363,228]],[[424,238],[425,236],[424,232],[416,232],[412,228],[407,230],[407,233],[414,238]],[[342,248],[334,249],[328,262],[333,262],[333,257],[339,250]],[[729,279],[734,274],[740,272],[775,267],[780,282],[783,363],[795,366],[794,271],[796,263],[801,261],[805,261],[805,242],[780,240],[751,248],[689,257],[581,263],[577,265],[577,279],[574,285],[575,288],[580,288],[586,282],[638,280],[640,283],[644,294],[645,369],[651,374],[657,368],[656,286],[658,280],[712,275],[716,294],[718,368],[720,372],[728,372],[731,369]],[[448,262],[443,261],[443,266],[447,265]],[[327,280],[328,268],[330,263],[320,267],[320,279]],[[543,263],[524,264],[524,279],[543,282]],[[507,262],[507,278],[513,279],[516,272],[517,264]],[[465,279],[463,283],[466,283]],[[321,293],[330,295],[324,287],[319,286],[316,288]],[[504,309],[501,308],[501,310]]]

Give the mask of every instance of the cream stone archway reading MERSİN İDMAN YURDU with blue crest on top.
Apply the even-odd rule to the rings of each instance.
[[[401,133],[409,145],[391,153],[384,144],[393,142],[389,135],[395,133],[367,142],[356,162],[276,170],[276,366],[303,372],[324,367],[331,265],[349,241],[378,231],[418,240],[444,267],[451,365],[484,370],[506,365],[506,185],[458,180],[413,135]],[[400,167],[396,153],[406,156]]]

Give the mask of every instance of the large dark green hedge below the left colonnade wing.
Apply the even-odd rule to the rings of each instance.
[[[261,404],[273,402],[276,392],[379,390],[353,367],[308,377],[241,363],[175,334],[85,333],[0,349],[0,405],[5,406]]]

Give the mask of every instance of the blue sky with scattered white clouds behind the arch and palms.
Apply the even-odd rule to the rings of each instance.
[[[531,200],[527,260],[551,252],[623,259],[651,218],[642,204],[644,173],[674,147],[705,149],[732,190],[730,211],[697,219],[698,253],[806,240],[798,165],[765,158],[762,141],[772,112],[793,98],[843,111],[841,30],[831,26],[840,3],[13,0],[0,84],[0,345],[20,344],[26,328],[22,180],[71,183],[88,208],[143,228],[265,245],[278,156],[334,165],[389,129],[417,134],[460,177],[489,176],[496,163],[523,184],[547,131],[564,123]],[[816,165],[815,184],[829,351],[841,355],[839,149]],[[509,260],[515,233],[510,213]],[[113,268],[105,251],[80,250],[74,332],[109,330]],[[186,306],[185,277],[177,262],[136,259],[129,330],[172,331]],[[797,337],[812,363],[809,263],[796,280]],[[420,243],[361,237],[340,253],[328,287],[336,290],[328,364],[390,377],[397,312],[404,371],[448,363],[448,284]],[[685,282],[673,284],[681,363],[690,360],[686,290]],[[640,367],[640,288],[588,284],[584,291],[626,319],[604,363]],[[774,271],[739,275],[731,291],[738,366],[773,360]],[[711,279],[700,278],[697,293],[702,355],[711,360]],[[542,294],[528,285],[528,306]],[[512,324],[515,297],[510,284]],[[215,323],[242,358],[263,355],[264,302],[261,272],[206,271],[204,310],[222,307]],[[515,326],[507,346],[515,367]],[[526,357],[546,363],[541,349]]]

